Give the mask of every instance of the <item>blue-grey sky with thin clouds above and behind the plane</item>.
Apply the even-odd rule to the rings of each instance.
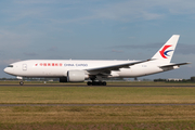
[[[0,78],[23,60],[147,60],[172,36],[181,68],[143,77],[195,76],[194,0],[1,0]]]

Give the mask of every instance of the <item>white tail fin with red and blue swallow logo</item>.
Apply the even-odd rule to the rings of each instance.
[[[170,63],[179,38],[179,35],[173,35],[152,58],[164,63]]]

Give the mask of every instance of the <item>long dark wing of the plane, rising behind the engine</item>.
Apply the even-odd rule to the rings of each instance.
[[[145,62],[150,62],[152,60],[145,60],[145,61],[139,61],[139,62],[131,62],[131,63],[126,63],[126,64],[117,64],[117,65],[112,65],[112,66],[104,66],[104,67],[99,67],[99,68],[90,68],[86,69],[89,73],[95,72],[98,74],[109,74],[110,70],[119,70],[120,68],[130,68],[130,66],[135,65],[135,64],[141,64]]]

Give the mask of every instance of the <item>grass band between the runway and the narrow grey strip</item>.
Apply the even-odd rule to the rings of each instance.
[[[195,103],[195,88],[0,87],[0,103]]]

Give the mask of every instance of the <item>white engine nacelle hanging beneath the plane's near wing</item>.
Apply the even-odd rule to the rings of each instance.
[[[83,70],[69,70],[67,72],[67,81],[70,82],[82,82],[87,78]]]

